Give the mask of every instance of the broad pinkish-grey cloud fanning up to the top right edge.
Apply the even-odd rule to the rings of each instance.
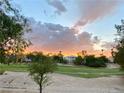
[[[110,14],[121,0],[77,0],[79,7],[79,20],[74,28],[79,29],[88,23]]]

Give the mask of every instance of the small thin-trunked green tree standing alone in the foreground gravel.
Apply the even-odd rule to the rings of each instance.
[[[30,75],[40,87],[40,93],[42,93],[43,86],[48,85],[48,73],[52,73],[56,64],[50,57],[47,57],[41,53],[37,53],[33,59],[33,63],[29,67]]]

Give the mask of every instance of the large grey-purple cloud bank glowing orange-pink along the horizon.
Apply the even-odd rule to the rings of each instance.
[[[26,37],[33,43],[29,48],[32,51],[58,52],[61,50],[64,54],[76,54],[81,50],[93,50],[94,38],[97,40],[88,32],[75,35],[74,29],[69,27],[30,20],[32,32]]]

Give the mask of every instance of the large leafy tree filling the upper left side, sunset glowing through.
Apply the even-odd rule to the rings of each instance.
[[[18,55],[30,44],[23,35],[29,31],[27,19],[8,0],[0,1],[0,56]],[[3,60],[2,59],[2,60]]]

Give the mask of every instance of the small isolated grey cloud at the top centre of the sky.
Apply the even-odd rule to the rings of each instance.
[[[56,9],[55,13],[61,15],[62,12],[66,12],[67,9],[60,0],[47,0],[47,3]]]

